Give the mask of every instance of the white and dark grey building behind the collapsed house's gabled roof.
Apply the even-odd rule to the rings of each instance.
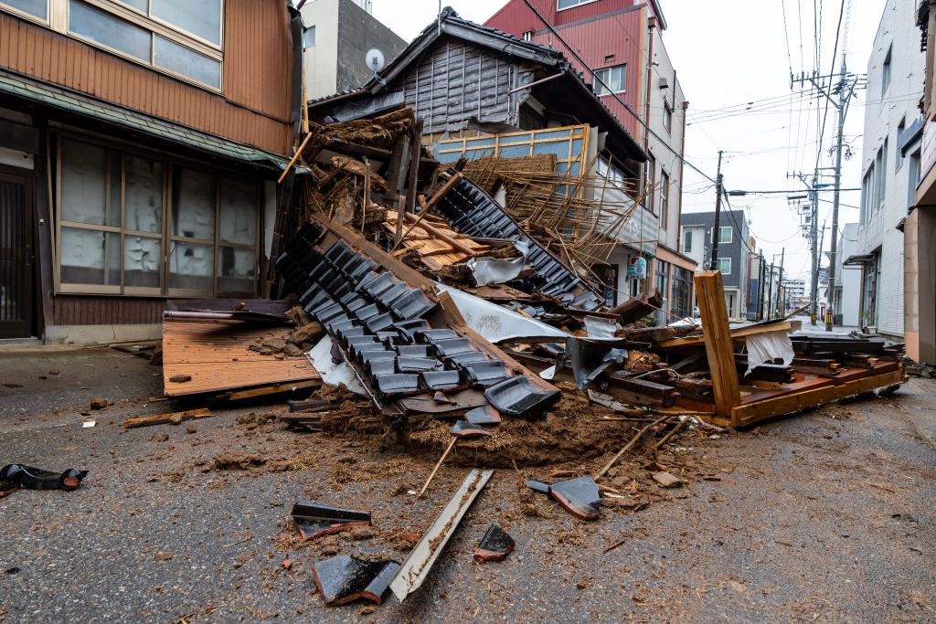
[[[372,0],[310,0],[302,5],[302,57],[308,99],[343,93],[373,78],[366,54],[386,63],[406,42],[371,14]]]

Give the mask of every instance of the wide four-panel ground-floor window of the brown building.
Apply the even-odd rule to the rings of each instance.
[[[58,153],[59,292],[256,294],[256,181],[83,138]]]

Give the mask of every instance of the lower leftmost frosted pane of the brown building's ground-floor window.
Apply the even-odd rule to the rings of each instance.
[[[62,227],[62,283],[120,285],[120,234]]]

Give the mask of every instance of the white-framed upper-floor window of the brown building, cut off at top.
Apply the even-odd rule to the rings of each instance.
[[[221,90],[223,0],[0,0],[0,10]]]

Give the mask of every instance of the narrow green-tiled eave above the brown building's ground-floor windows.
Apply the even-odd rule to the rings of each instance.
[[[265,152],[178,123],[167,122],[136,110],[124,109],[90,95],[80,94],[65,87],[34,80],[4,69],[0,69],[0,94],[37,102],[51,109],[78,113],[231,160],[267,165],[281,170],[288,162],[279,154]]]

